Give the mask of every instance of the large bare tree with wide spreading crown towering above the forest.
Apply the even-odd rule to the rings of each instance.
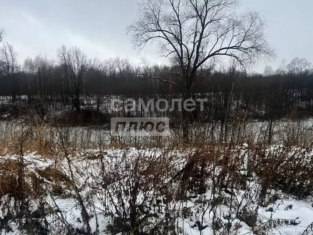
[[[228,56],[243,66],[272,57],[266,20],[256,11],[238,13],[237,0],[143,0],[127,33],[135,49],[156,43],[160,56],[178,65],[173,83],[149,74],[145,78],[171,83],[187,98],[198,69],[210,59]]]

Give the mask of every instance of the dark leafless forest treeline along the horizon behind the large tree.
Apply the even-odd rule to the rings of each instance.
[[[0,49],[0,96],[16,101],[21,95],[28,103],[42,100],[66,102],[80,111],[84,98],[92,96],[100,111],[105,97],[179,98],[179,90],[148,74],[180,84],[177,68],[169,65],[135,65],[129,58],[90,59],[78,47],[64,45],[54,59],[44,55],[28,57],[18,63],[18,53],[9,43]],[[282,118],[292,110],[301,115],[313,111],[313,70],[306,59],[285,60],[277,70],[266,66],[263,74],[248,75],[235,64],[217,69],[199,69],[190,96],[207,98],[205,118],[221,120],[227,109],[240,109],[251,118]],[[234,110],[233,110],[234,111]],[[199,113],[194,114],[194,116]]]

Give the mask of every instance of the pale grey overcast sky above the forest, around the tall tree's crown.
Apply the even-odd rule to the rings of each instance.
[[[102,59],[136,52],[125,27],[136,15],[137,0],[0,0],[0,28],[22,62],[41,52],[55,57],[64,44],[79,46],[89,57]],[[242,8],[262,10],[269,19],[270,42],[278,49],[275,69],[282,59],[304,57],[313,63],[312,0],[243,0]],[[153,60],[152,48],[144,55]],[[264,65],[257,68],[263,71]]]

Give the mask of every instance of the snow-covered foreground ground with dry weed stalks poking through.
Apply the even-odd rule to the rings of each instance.
[[[3,195],[0,188],[1,234],[313,234],[312,196],[269,187],[258,205],[261,180],[248,175],[247,144],[233,150],[241,159],[240,185],[216,188],[222,169],[212,162],[205,166],[210,174],[204,190],[188,188],[182,199],[177,175],[196,151],[129,148],[72,150],[54,159],[36,153],[2,156],[3,165],[23,161],[30,191],[19,203],[18,196]],[[280,146],[268,151],[278,153]],[[305,152],[302,158],[309,164],[312,155]],[[16,183],[21,177],[2,168],[0,174]]]

